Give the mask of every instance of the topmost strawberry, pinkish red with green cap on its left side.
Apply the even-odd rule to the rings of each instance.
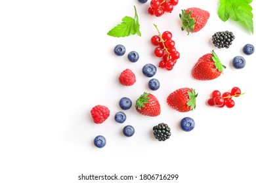
[[[181,10],[179,16],[182,21],[181,30],[185,29],[189,34],[200,31],[207,23],[210,14],[207,10],[193,7]]]

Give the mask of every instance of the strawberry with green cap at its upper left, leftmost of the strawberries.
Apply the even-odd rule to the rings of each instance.
[[[145,116],[158,116],[161,113],[158,99],[151,93],[144,92],[136,101],[137,112]]]

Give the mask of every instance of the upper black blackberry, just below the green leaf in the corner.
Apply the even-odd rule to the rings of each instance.
[[[229,48],[234,41],[235,36],[230,31],[219,31],[215,33],[211,40],[217,48]]]

